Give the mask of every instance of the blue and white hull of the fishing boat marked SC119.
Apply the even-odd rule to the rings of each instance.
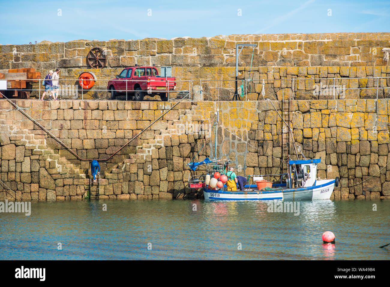
[[[249,187],[249,186],[248,186]],[[250,186],[250,187],[255,187]],[[206,200],[317,200],[329,199],[335,187],[335,179],[316,181],[314,186],[255,191],[223,191],[203,189]]]

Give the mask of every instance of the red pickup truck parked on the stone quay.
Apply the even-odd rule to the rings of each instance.
[[[145,93],[149,96],[159,95],[162,101],[167,101],[167,90],[176,89],[176,78],[160,77],[154,65],[128,67],[108,81],[107,90],[111,93],[111,99],[115,99],[118,94],[126,93],[126,82],[128,96],[130,99],[134,96],[137,101],[142,101]]]

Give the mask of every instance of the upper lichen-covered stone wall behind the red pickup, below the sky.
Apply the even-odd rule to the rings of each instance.
[[[0,45],[0,69],[35,68],[42,76],[50,69],[61,68],[61,79],[77,79],[84,71],[92,71],[100,80],[90,91],[85,91],[85,99],[106,99],[108,92],[96,91],[106,89],[106,80],[114,78],[123,67],[138,64],[156,67],[172,66],[172,75],[178,80],[178,90],[188,90],[188,81],[191,85],[199,85],[199,79],[220,80],[218,87],[227,94],[234,92],[235,52],[237,43],[257,44],[252,58],[252,48],[244,48],[239,56],[239,78],[249,78],[250,66],[256,81],[268,79],[267,92],[272,98],[280,88],[290,87],[291,82],[275,81],[274,79],[291,78],[333,78],[366,76],[388,76],[383,61],[383,48],[390,47],[389,33],[322,33],[322,34],[258,34],[258,35],[218,35],[202,38],[173,38],[142,40],[89,41],[75,40],[66,43],[51,43],[43,41],[37,44]],[[100,47],[105,50],[107,66],[103,69],[90,69],[87,66],[86,56],[91,48]],[[372,67],[385,66],[381,71]],[[279,69],[279,67],[281,67]],[[286,69],[287,67],[287,69]],[[288,69],[294,67],[294,69]],[[297,68],[300,67],[298,70]],[[310,67],[307,69],[306,67]],[[316,68],[314,68],[316,67]],[[323,67],[321,71],[319,67]],[[326,68],[324,68],[326,67]],[[351,69],[349,69],[351,67]],[[360,67],[359,70],[356,67]],[[366,68],[367,67],[367,68]],[[314,70],[315,69],[315,70]],[[364,70],[364,73],[363,73]],[[380,69],[379,69],[380,70]],[[333,75],[333,76],[332,76]],[[301,81],[302,83],[303,81]],[[78,84],[73,81],[60,81],[62,85]],[[257,83],[259,84],[259,83]],[[329,85],[329,83],[327,83]],[[332,83],[333,84],[333,83]],[[345,81],[342,83],[346,84]],[[304,89],[301,86],[306,86]],[[356,87],[356,81],[347,83],[347,87]],[[375,87],[376,82],[359,80],[359,87]],[[280,86],[280,87],[279,87]],[[297,98],[320,99],[313,97],[312,83],[308,81],[297,87]],[[215,82],[202,82],[205,92],[214,95]],[[388,87],[388,83],[381,81],[380,87]],[[39,89],[38,84],[33,89]],[[259,85],[252,85],[248,90],[250,99],[259,97]],[[280,92],[279,92],[280,93]],[[81,98],[81,92],[78,92]],[[257,97],[256,95],[257,94]],[[367,90],[360,94],[351,91],[350,98],[368,98],[372,94]],[[384,92],[382,90],[381,94]],[[37,92],[32,94],[37,95]],[[277,94],[278,95],[278,94]],[[74,94],[67,98],[71,99]],[[386,97],[387,94],[384,94]],[[65,95],[63,95],[65,97]],[[348,98],[346,97],[346,98]],[[325,97],[323,97],[324,99]],[[262,99],[262,97],[261,97]]]

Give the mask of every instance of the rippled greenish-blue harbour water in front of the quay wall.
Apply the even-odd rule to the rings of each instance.
[[[302,201],[298,216],[267,207],[253,201],[37,202],[30,216],[0,213],[0,259],[390,259],[390,250],[378,248],[390,243],[390,200]],[[326,230],[336,236],[332,248],[322,244]]]

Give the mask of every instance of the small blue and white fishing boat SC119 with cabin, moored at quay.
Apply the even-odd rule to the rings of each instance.
[[[339,178],[317,179],[317,164],[320,159],[302,159],[289,161],[289,173],[273,175],[249,175],[249,179],[256,181],[258,178],[280,176],[279,182],[273,182],[270,188],[259,188],[258,184],[246,184],[243,191],[228,191],[226,185],[222,188],[211,187],[207,182],[207,174],[210,178],[214,174],[222,174],[229,161],[205,161],[195,163],[191,169],[198,165],[206,164],[206,175],[190,175],[188,186],[190,188],[202,188],[206,200],[317,200],[329,199],[335,186],[339,186]],[[258,181],[257,181],[258,182]]]

